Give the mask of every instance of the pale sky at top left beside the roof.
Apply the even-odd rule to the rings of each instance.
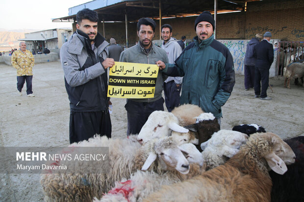
[[[91,0],[0,0],[0,28],[72,28],[72,22],[51,22],[51,19],[68,16],[69,8],[89,1]]]

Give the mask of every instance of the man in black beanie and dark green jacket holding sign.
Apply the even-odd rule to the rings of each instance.
[[[197,36],[193,38],[175,64],[157,61],[168,76],[184,76],[180,104],[198,105],[211,112],[221,123],[221,107],[228,100],[235,84],[232,55],[213,36],[214,19],[204,11],[195,20]]]

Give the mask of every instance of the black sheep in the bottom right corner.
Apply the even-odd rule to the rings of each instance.
[[[304,136],[284,140],[296,154],[294,164],[287,165],[287,172],[280,176],[270,171],[273,182],[271,190],[272,202],[304,201]]]

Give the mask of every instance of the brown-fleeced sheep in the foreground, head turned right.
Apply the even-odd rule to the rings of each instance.
[[[144,202],[269,202],[272,182],[268,171],[283,175],[286,164],[294,161],[294,152],[278,135],[253,134],[224,165],[162,186]]]

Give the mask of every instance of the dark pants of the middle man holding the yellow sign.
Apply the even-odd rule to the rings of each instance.
[[[127,99],[127,136],[138,134],[150,114],[154,111],[164,111],[164,98],[154,102],[135,102]]]

